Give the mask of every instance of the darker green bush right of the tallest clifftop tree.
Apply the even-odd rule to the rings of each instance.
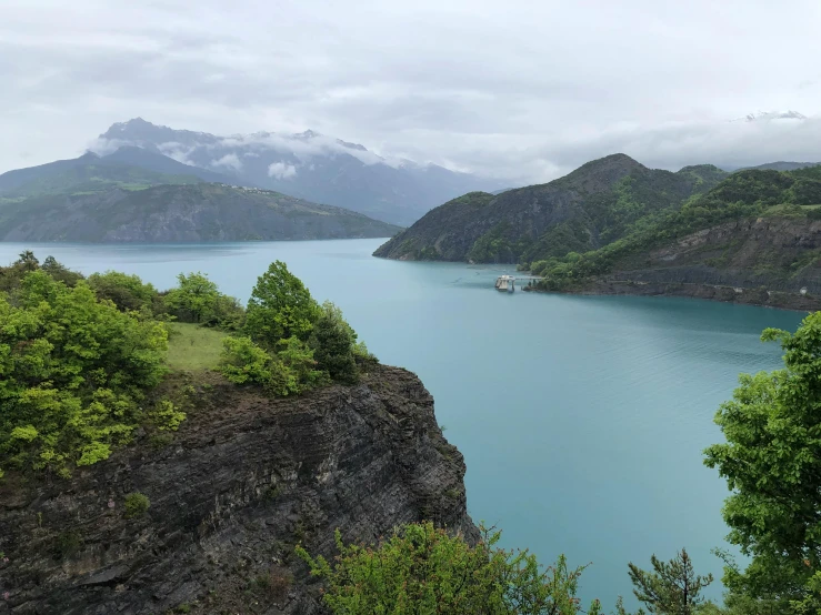
[[[359,381],[354,359],[356,342],[357,334],[342,317],[342,311],[326,301],[313,325],[310,341],[319,369],[328,372],[337,382],[356,384]]]

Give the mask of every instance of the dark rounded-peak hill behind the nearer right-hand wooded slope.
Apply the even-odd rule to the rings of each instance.
[[[709,190],[725,175],[712,165],[685,167],[675,173],[651,170],[628,155],[613,154],[547,184],[453,199],[374,255],[517,263],[587,252],[619,239],[635,220]]]

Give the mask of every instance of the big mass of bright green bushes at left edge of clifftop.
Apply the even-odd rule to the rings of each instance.
[[[68,475],[107,458],[141,420],[166,351],[161,323],[98,301],[86,282],[26,274],[0,295],[0,463]]]

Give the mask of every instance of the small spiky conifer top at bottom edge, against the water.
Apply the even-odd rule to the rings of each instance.
[[[699,605],[704,602],[699,594],[712,583],[712,575],[697,575],[684,548],[669,562],[662,562],[652,555],[650,563],[653,572],[642,571],[632,562],[628,564],[633,594],[647,605],[648,611],[660,615],[697,613]]]

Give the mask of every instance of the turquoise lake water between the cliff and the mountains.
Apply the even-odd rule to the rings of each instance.
[[[498,268],[370,256],[380,240],[184,244],[0,244],[83,273],[114,269],[169,288],[202,271],[248,299],[283,260],[330,299],[383,363],[420,375],[464,454],[470,513],[544,563],[565,553],[585,599],[631,596],[627,563],[682,546],[702,574],[723,544],[727,487],[702,465],[712,417],[739,372],[780,365],[762,329],[793,312],[682,299],[582,298],[493,290]],[[718,587],[710,593],[720,594]],[[632,601],[630,601],[632,602]]]

